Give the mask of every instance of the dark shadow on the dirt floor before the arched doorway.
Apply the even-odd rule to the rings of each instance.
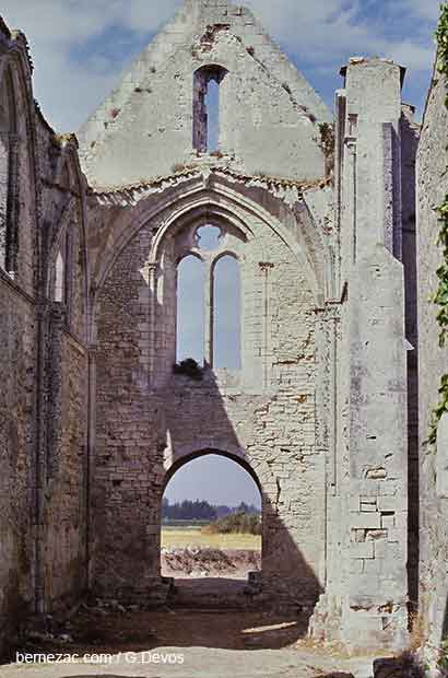
[[[117,612],[81,610],[64,632],[73,642],[39,641],[26,652],[145,652],[161,647],[280,650],[306,636],[307,616],[261,611],[172,609]],[[38,646],[37,646],[38,645]]]

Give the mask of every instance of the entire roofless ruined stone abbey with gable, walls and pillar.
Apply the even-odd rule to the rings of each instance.
[[[163,604],[163,491],[211,453],[262,495],[260,605],[300,606],[313,636],[354,650],[405,648],[416,612],[439,643],[448,424],[436,446],[427,433],[447,353],[428,299],[446,79],[421,126],[402,66],[352,58],[331,112],[227,0],[186,0],[76,136],[46,122],[32,71],[1,23],[1,647],[86,591]],[[173,371],[190,255],[201,381]],[[214,364],[223,257],[239,370]]]

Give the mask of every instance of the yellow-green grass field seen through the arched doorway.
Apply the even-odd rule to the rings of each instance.
[[[162,527],[162,548],[185,549],[199,546],[213,549],[261,550],[261,537],[256,535],[204,535],[200,526]]]

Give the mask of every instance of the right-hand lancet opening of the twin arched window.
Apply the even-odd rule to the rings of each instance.
[[[241,369],[239,264],[229,255],[213,271],[213,367]]]

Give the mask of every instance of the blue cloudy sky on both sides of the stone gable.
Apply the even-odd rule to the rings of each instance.
[[[76,129],[118,81],[122,58],[102,55],[102,35],[120,26],[135,35],[154,33],[181,0],[3,0],[2,13],[10,27],[28,37],[36,65],[35,94],[44,114],[58,129]],[[382,0],[384,19],[366,19],[365,10],[378,9],[372,0],[246,0],[264,27],[308,69],[322,73],[338,68],[351,55],[390,56],[412,71],[431,69],[432,25],[438,0]],[[38,8],[38,9],[37,9]],[[364,11],[364,15],[363,15]],[[379,17],[378,17],[379,16]],[[400,39],[388,36],[387,22],[413,20],[415,31]],[[84,58],[73,50],[97,40]],[[129,55],[129,60],[134,55]]]

